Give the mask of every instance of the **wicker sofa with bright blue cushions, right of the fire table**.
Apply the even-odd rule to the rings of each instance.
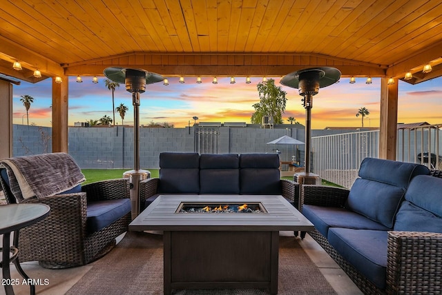
[[[309,234],[365,294],[441,294],[442,179],[366,158],[351,190],[302,185]]]

